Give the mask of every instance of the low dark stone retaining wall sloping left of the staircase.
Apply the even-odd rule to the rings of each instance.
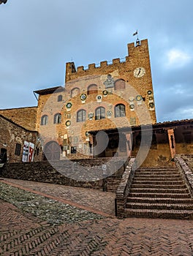
[[[47,161],[8,163],[1,169],[1,176],[116,192],[126,163],[124,159],[113,162],[107,159],[81,159],[55,161],[51,164]],[[107,167],[105,173],[102,165]]]

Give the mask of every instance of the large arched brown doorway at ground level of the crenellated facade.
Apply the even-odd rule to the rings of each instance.
[[[56,141],[45,144],[43,160],[53,161],[60,159],[61,148]]]

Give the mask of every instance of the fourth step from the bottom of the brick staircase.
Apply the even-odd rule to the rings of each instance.
[[[191,195],[189,193],[151,193],[151,192],[129,192],[128,197],[165,197],[165,198],[191,198]]]

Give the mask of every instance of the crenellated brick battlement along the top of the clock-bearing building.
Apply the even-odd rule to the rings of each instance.
[[[132,56],[139,56],[139,53],[148,51],[148,39],[143,39],[140,41],[140,45],[135,45],[134,42],[127,45],[128,56],[124,58],[116,58],[112,61],[101,61],[99,64],[88,64],[88,66],[75,67],[74,62],[67,62],[66,64],[66,82],[71,80],[77,75],[91,75],[93,72],[101,72],[102,69],[107,69],[108,67],[121,67],[125,63],[129,62]]]

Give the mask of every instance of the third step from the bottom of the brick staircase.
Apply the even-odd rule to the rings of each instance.
[[[193,203],[193,199],[189,198],[172,198],[172,197],[127,197],[127,202],[131,203]]]

